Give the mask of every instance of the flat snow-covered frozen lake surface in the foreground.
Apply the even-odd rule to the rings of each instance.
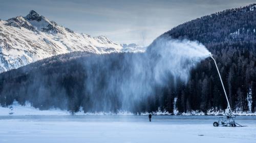
[[[256,142],[256,116],[247,127],[214,127],[217,116],[0,116],[0,142]]]

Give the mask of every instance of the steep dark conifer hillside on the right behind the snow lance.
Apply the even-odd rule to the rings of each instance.
[[[160,37],[198,40],[214,54],[231,108],[255,111],[256,4],[204,16],[174,27]],[[224,109],[226,101],[214,62],[205,60],[187,85],[175,92],[179,111]],[[181,94],[180,94],[181,93]],[[168,94],[172,94],[169,92]],[[173,97],[174,98],[174,97]],[[169,103],[167,97],[165,99]],[[247,102],[249,101],[249,103]],[[251,107],[250,107],[251,106]],[[172,111],[172,108],[169,109]]]

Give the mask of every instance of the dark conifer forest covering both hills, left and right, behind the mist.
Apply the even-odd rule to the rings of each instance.
[[[160,36],[204,44],[216,59],[231,108],[239,112],[256,110],[256,9],[252,6],[188,21]],[[154,42],[148,47],[151,48]],[[133,60],[138,56],[148,55],[148,49],[145,53],[73,52],[1,73],[0,104],[8,106],[16,100],[22,105],[28,101],[39,109],[57,107],[76,112],[82,107],[85,112],[129,110],[135,113],[158,110],[206,113],[227,107],[217,69],[209,58],[191,71],[187,83],[174,81],[169,75],[165,84],[139,91],[136,85],[143,83],[138,81],[140,75],[124,75],[138,68],[131,67],[131,62],[136,62]],[[147,64],[154,63],[149,60]],[[151,82],[150,72],[147,75],[141,78]],[[135,86],[126,87],[122,81],[125,79],[136,81]],[[124,83],[122,87],[120,82]],[[120,94],[131,88],[136,92],[121,98]],[[144,91],[149,90],[151,94],[145,96]]]

